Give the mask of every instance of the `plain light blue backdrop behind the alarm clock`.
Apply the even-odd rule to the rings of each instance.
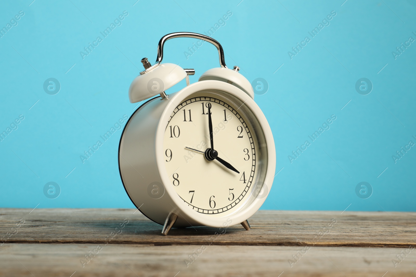
[[[213,38],[229,67],[269,84],[255,101],[272,128],[280,172],[262,209],[415,211],[416,147],[396,163],[392,155],[416,142],[416,42],[396,59],[392,51],[416,39],[416,2],[240,1],[2,1],[0,27],[25,15],[0,38],[0,130],[25,119],[0,142],[0,206],[134,207],[118,171],[121,130],[85,163],[79,156],[133,113],[129,85],[141,58],[154,63],[163,35],[207,32],[231,11]],[[79,52],[124,10],[122,25],[82,59]],[[311,38],[331,11],[330,25]],[[290,59],[306,36],[311,41]],[[204,44],[186,59],[192,42],[169,41],[163,61],[195,68],[195,82],[218,67],[218,54]],[[47,78],[59,80],[56,95],[43,90]],[[368,95],[355,90],[359,78],[371,80]],[[288,155],[331,115],[330,129],[290,163]],[[50,181],[61,188],[56,199],[43,194]],[[373,188],[368,199],[355,193],[362,181]]]

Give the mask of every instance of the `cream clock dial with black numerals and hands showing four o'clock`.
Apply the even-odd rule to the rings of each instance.
[[[195,93],[175,108],[166,126],[163,159],[170,184],[165,185],[198,213],[229,215],[249,205],[261,189],[261,128],[246,105],[234,100]],[[260,164],[264,170],[264,159]]]

